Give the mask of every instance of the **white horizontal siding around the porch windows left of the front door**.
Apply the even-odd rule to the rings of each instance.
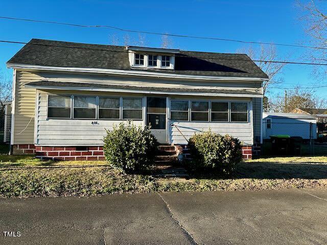
[[[46,93],[39,93],[37,144],[38,145],[102,145],[106,130],[126,120],[97,119],[47,119]],[[92,125],[98,121],[99,125]],[[143,125],[143,121],[134,121],[135,125]]]

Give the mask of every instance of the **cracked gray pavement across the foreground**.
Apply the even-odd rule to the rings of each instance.
[[[327,191],[2,199],[0,229],[0,244],[326,244]]]

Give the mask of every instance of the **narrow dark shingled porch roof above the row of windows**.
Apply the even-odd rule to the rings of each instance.
[[[37,81],[30,82],[26,85],[34,87],[92,87],[92,88],[116,88],[116,89],[134,89],[134,90],[150,90],[162,92],[199,92],[199,93],[229,93],[229,94],[261,94],[248,91],[245,89],[203,89],[203,88],[176,88],[176,87],[145,87],[131,85],[116,85],[116,84],[97,84],[97,83],[76,83],[76,82],[56,82],[56,81]]]

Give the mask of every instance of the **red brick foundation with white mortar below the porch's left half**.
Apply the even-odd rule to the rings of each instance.
[[[76,146],[35,146],[35,154],[37,158],[41,158],[42,160],[105,160],[103,155],[103,146],[85,146],[85,148],[86,150],[78,150]]]

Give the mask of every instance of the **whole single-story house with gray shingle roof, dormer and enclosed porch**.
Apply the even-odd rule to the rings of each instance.
[[[246,158],[262,141],[268,77],[244,54],[32,39],[7,66],[13,154],[103,159],[105,129],[129,119],[173,145],[209,129],[230,134]]]

